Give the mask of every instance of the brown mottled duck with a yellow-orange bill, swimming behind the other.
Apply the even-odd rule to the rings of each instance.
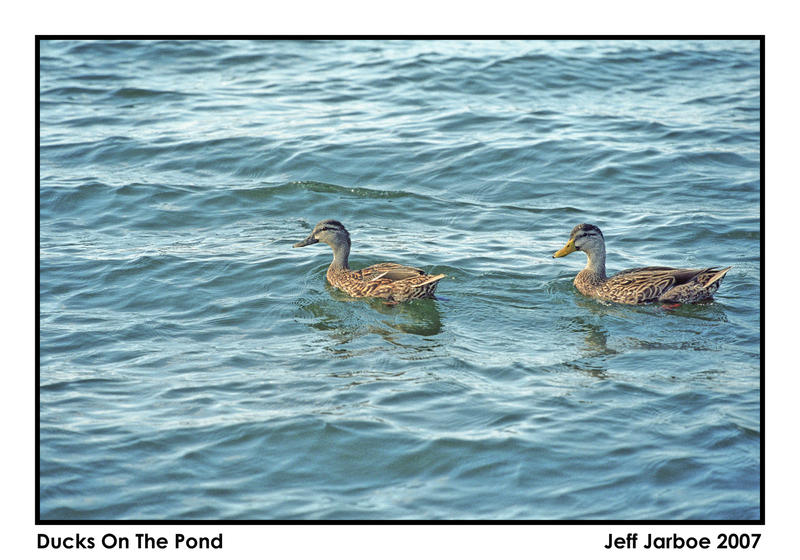
[[[575,277],[580,293],[596,299],[625,304],[662,303],[676,307],[684,303],[709,301],[722,279],[733,268],[671,268],[646,266],[629,268],[606,276],[606,243],[603,232],[592,224],[578,224],[569,241],[553,258],[575,251],[586,253],[586,268]]]

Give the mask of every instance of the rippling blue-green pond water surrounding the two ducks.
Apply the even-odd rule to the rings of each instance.
[[[40,46],[43,519],[759,517],[757,41]]]

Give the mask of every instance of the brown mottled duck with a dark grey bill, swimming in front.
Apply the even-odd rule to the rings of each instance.
[[[333,261],[325,274],[331,286],[353,297],[373,297],[389,304],[412,299],[435,298],[433,295],[444,274],[430,275],[425,271],[393,262],[383,262],[350,270],[350,233],[337,220],[322,220],[311,234],[293,247],[305,247],[323,242],[333,250]]]

